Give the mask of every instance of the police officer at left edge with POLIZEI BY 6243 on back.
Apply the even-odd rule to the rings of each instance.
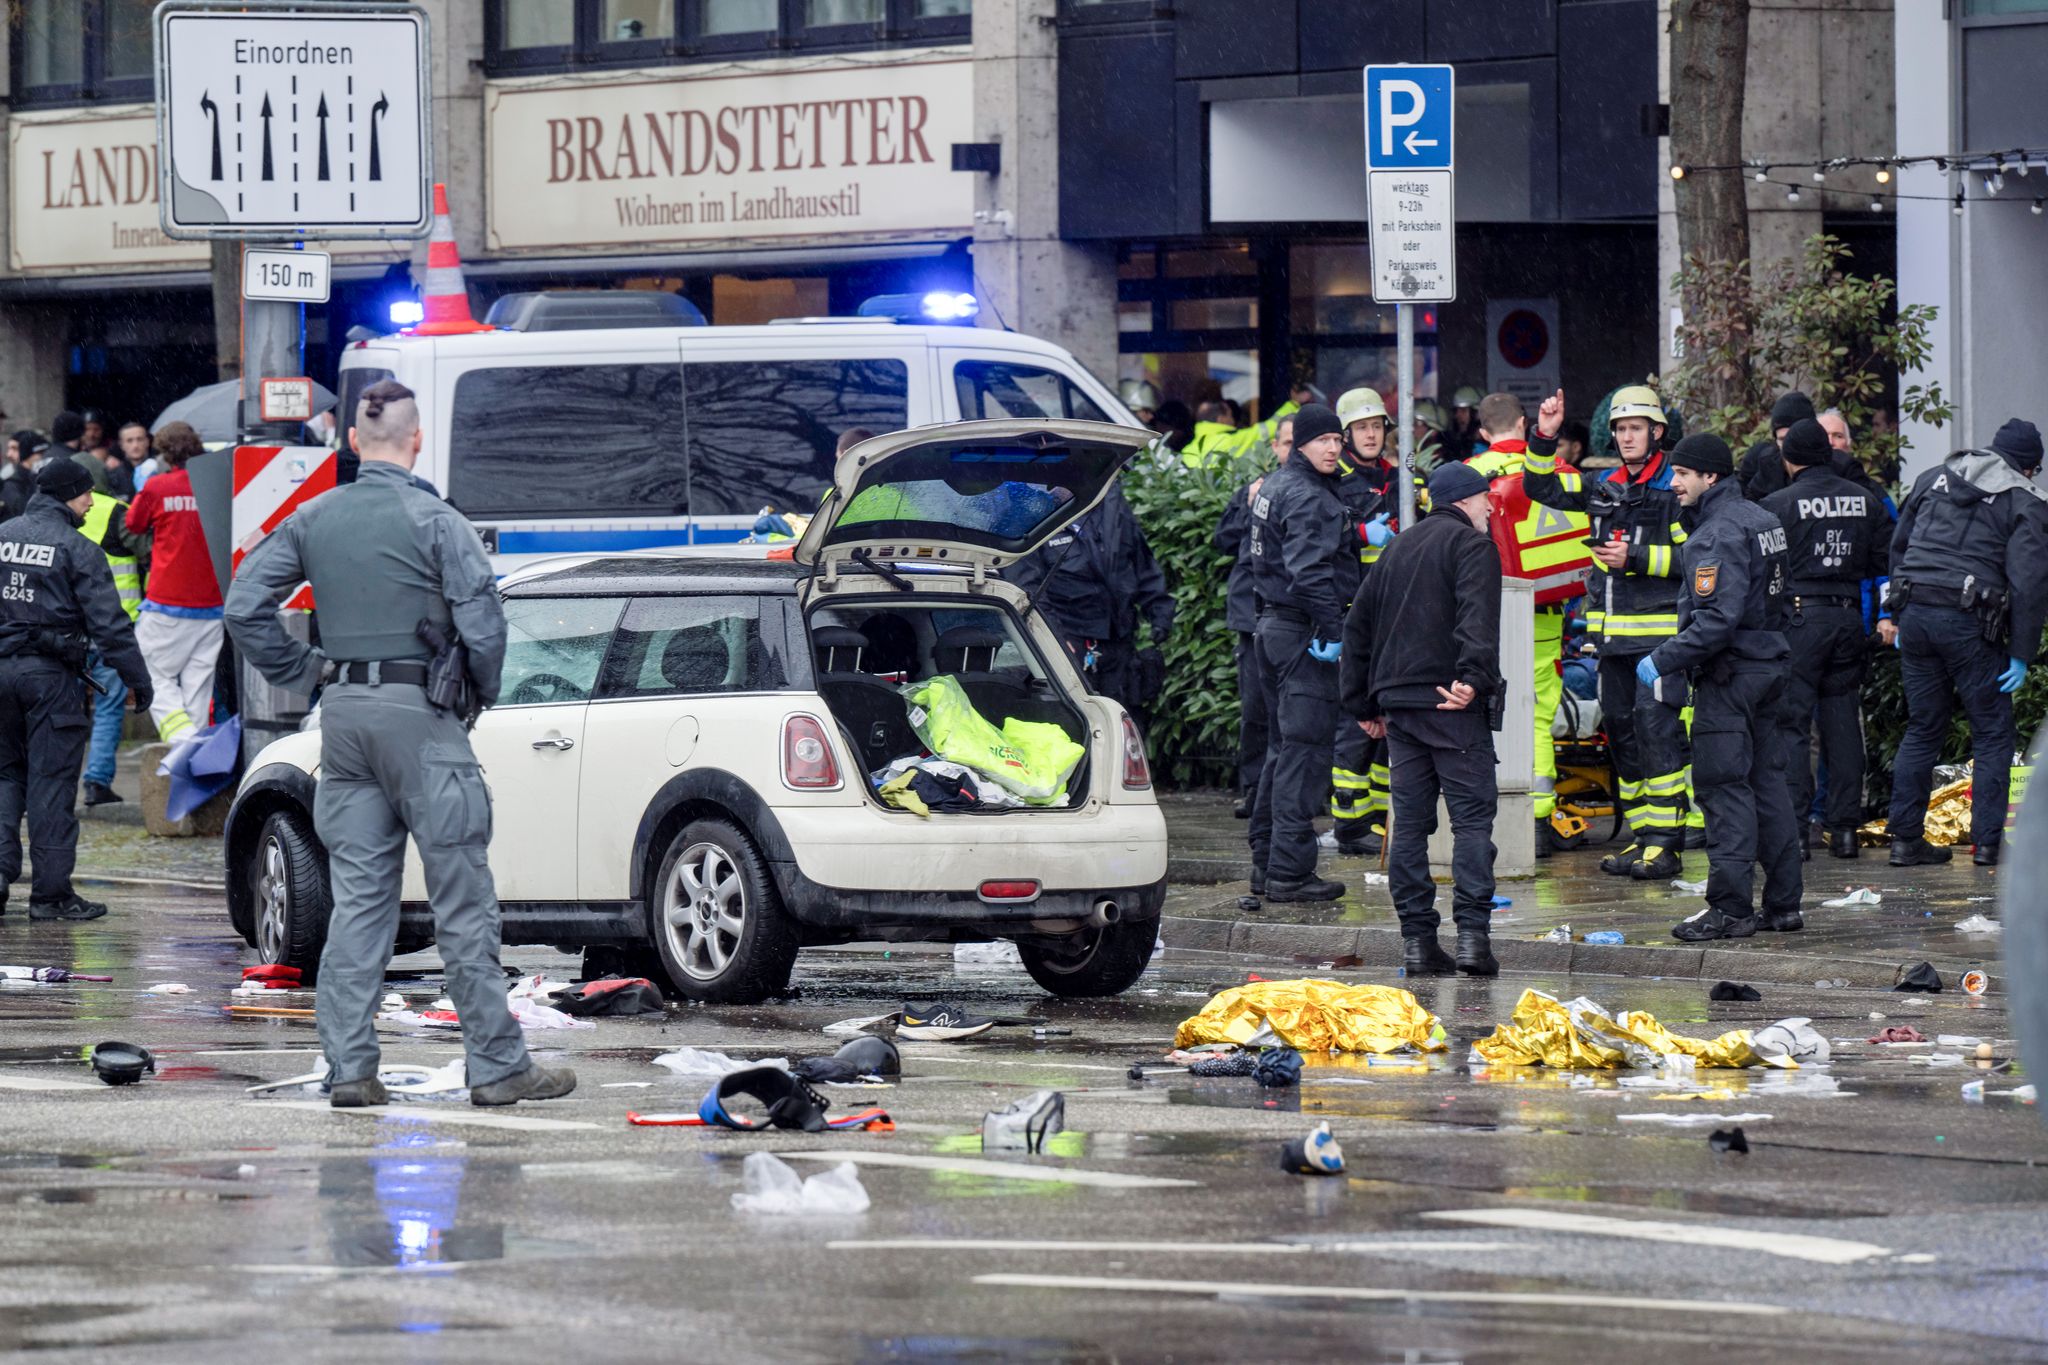
[[[29,814],[35,886],[29,919],[98,919],[104,905],[72,890],[78,860],[78,772],[92,737],[86,649],[98,649],[150,708],[150,669],[121,610],[100,546],[78,534],[92,475],[45,460],[27,510],[0,524],[0,911],[20,876]]]

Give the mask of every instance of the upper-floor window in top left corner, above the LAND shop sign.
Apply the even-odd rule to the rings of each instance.
[[[145,100],[154,90],[154,0],[14,0],[14,100]]]

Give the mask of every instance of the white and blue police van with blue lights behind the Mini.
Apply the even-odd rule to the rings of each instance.
[[[764,510],[809,516],[854,428],[1139,426],[1059,346],[961,325],[971,295],[893,295],[860,311],[711,327],[680,295],[508,295],[487,332],[350,342],[338,420],[346,428],[383,379],[412,389],[426,430],[418,473],[469,516],[500,573],[557,555],[733,544]]]

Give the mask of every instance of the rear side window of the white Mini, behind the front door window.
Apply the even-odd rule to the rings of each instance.
[[[788,630],[762,598],[635,598],[604,665],[602,698],[782,692]]]

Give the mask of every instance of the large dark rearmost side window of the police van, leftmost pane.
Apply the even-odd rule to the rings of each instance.
[[[680,516],[676,364],[549,364],[455,381],[449,501],[469,516]]]

